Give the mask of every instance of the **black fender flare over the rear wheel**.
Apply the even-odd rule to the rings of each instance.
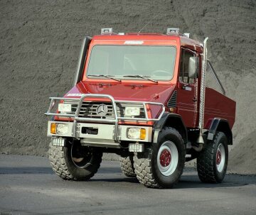
[[[228,123],[228,120],[225,118],[213,118],[213,121],[210,124],[208,130],[208,140],[213,140],[217,131],[223,131],[228,138],[228,145],[233,145],[233,134]]]

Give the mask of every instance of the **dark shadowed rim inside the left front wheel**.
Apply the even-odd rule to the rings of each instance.
[[[84,153],[83,157],[78,156],[79,150],[82,150],[81,145],[72,144],[71,146],[71,160],[73,161],[74,165],[78,168],[84,169],[88,165],[90,165],[92,161],[92,153],[88,151]],[[79,157],[79,158],[78,158]]]

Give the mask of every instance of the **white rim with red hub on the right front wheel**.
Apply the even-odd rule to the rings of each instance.
[[[157,166],[164,176],[174,173],[178,165],[178,149],[171,141],[164,142],[157,154]]]

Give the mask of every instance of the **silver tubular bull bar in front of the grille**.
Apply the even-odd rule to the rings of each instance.
[[[82,106],[82,102],[85,98],[107,98],[110,99],[113,107],[114,118],[85,118],[79,117],[80,109]],[[52,109],[55,106],[56,100],[67,100],[67,101],[78,101],[78,107],[75,111],[75,114],[59,114],[52,113]],[[116,103],[129,103],[129,104],[142,104],[144,107],[145,118],[128,118],[128,117],[120,117],[117,115],[117,106]],[[161,113],[157,118],[149,118],[148,111],[146,111],[146,104],[161,106]],[[63,116],[73,118],[73,137],[76,138],[76,127],[78,121],[87,121],[87,122],[102,122],[102,123],[114,123],[114,141],[118,142],[118,122],[119,121],[159,121],[161,116],[164,114],[165,108],[164,104],[156,103],[156,102],[148,102],[148,101],[125,101],[125,100],[114,100],[114,98],[107,94],[82,94],[80,98],[67,98],[67,97],[50,97],[50,106],[48,111],[45,113],[47,116]]]

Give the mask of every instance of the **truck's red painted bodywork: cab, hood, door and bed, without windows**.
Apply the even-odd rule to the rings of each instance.
[[[127,40],[143,41],[142,45],[176,46],[173,79],[170,81],[159,81],[158,83],[154,83],[143,79],[122,79],[122,82],[117,82],[112,79],[87,78],[86,71],[90,59],[90,51],[94,45],[124,45],[124,42]],[[82,81],[73,87],[73,89],[70,89],[65,97],[69,97],[68,94],[110,94],[116,100],[152,101],[162,103],[166,106],[171,94],[176,90],[177,105],[176,109],[174,109],[174,113],[181,115],[186,127],[198,128],[201,75],[199,75],[197,81],[193,84],[183,84],[178,81],[182,47],[196,52],[200,57],[201,65],[201,55],[203,53],[201,44],[196,40],[186,38],[182,35],[127,34],[94,36],[87,51],[87,59],[85,60]],[[183,89],[184,87],[190,87],[191,90]],[[167,107],[166,111],[169,111]],[[205,128],[210,126],[210,122],[213,118],[227,119],[230,128],[232,128],[235,122],[235,101],[223,96],[213,89],[206,88]]]

